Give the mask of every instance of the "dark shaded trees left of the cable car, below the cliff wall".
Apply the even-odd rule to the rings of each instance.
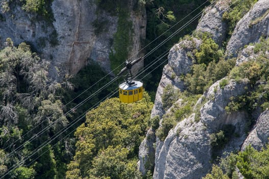
[[[90,64],[81,69],[76,76],[69,77],[68,81],[74,86],[74,89],[63,89],[61,91],[61,96],[64,96],[64,104],[75,98],[74,101],[67,105],[67,108],[75,107],[80,102],[84,101],[87,97],[90,97],[90,99],[85,104],[76,109],[76,113],[70,117],[70,120],[76,119],[76,117],[82,115],[91,107],[94,107],[94,105],[98,103],[99,100],[106,97],[117,87],[117,84],[113,83],[107,85],[107,87],[105,87],[101,92],[95,93],[98,89],[106,85],[111,79],[110,76],[102,79],[107,74],[102,70],[100,65],[94,61],[90,61],[89,63]],[[95,82],[99,80],[101,81],[95,84]]]

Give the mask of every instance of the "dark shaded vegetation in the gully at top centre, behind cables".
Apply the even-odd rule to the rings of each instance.
[[[204,6],[200,7],[199,10],[185,17],[186,14],[192,12],[194,9],[198,8],[205,1],[197,0],[173,0],[173,1],[160,1],[160,0],[140,0],[146,8],[146,40],[145,44],[153,41],[149,46],[146,47],[145,52],[150,52],[156,46],[158,46],[163,40],[169,37],[173,32],[181,28],[188,20],[190,20],[195,14],[200,12]],[[208,4],[205,4],[205,6]],[[184,17],[184,19],[183,19]],[[170,27],[176,24],[177,21],[182,20],[177,23],[168,32],[164,33]],[[164,43],[158,50],[152,53],[150,56],[144,59],[144,64],[147,65],[160,56],[164,51],[170,49],[175,43],[179,41],[180,37],[189,34],[192,30],[196,28],[198,24],[198,19],[194,20],[187,28],[184,28],[178,35]],[[142,27],[141,27],[142,28]],[[164,34],[163,34],[164,33]],[[158,36],[163,34],[160,38],[156,39]],[[163,59],[165,60],[165,59]],[[163,62],[160,60],[154,66],[152,66],[146,73],[149,73],[156,68],[157,65]],[[155,93],[157,91],[158,83],[161,79],[162,70],[164,64],[160,65],[151,75],[143,79],[146,91],[151,95],[152,101],[155,99]]]

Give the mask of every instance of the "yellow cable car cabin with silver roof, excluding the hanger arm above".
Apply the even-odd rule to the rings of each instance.
[[[143,82],[140,80],[120,83],[118,88],[121,102],[132,103],[143,98]]]

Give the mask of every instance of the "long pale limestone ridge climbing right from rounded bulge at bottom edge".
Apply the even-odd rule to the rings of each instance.
[[[195,122],[194,116],[197,114],[192,114],[170,130],[163,142],[157,140],[154,178],[204,176],[211,168],[210,134],[218,132],[224,125],[234,126],[234,132],[238,133],[240,138],[232,138],[222,151],[240,149],[246,139],[243,129],[247,125],[247,115],[228,115],[224,108],[230,97],[246,93],[248,85],[248,80],[239,83],[231,80],[222,89],[219,87],[219,81],[214,83],[202,97],[207,102],[200,109],[200,121]],[[202,98],[199,101],[202,101]]]

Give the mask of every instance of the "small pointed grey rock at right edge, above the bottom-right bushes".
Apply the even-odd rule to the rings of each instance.
[[[256,150],[261,150],[268,143],[269,137],[269,111],[265,110],[258,118],[256,125],[242,145],[242,150],[251,145]]]

